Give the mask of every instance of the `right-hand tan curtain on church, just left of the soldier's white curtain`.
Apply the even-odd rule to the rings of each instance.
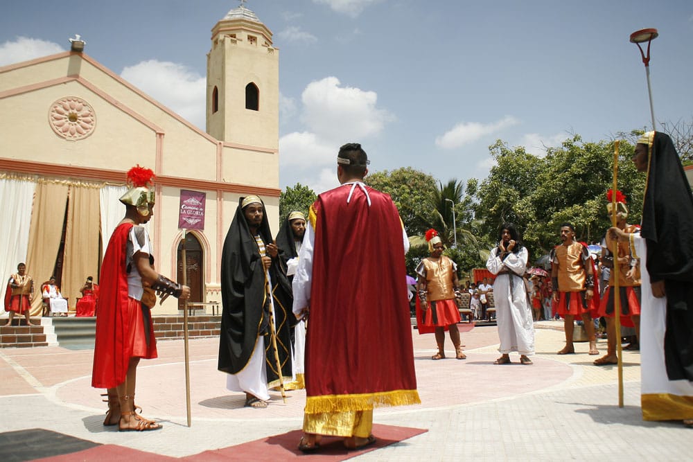
[[[93,186],[70,186],[60,290],[69,298],[72,308],[82,296],[80,289],[87,276],[94,276],[98,282],[99,190]]]

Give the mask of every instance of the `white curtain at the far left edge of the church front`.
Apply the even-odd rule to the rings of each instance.
[[[26,263],[26,249],[31,224],[31,204],[36,183],[14,179],[5,175],[0,178],[0,300],[5,299],[10,274],[17,272],[19,263]],[[0,316],[8,313],[0,310]]]

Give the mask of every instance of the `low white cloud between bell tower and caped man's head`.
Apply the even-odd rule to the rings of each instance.
[[[335,163],[338,146],[326,143],[315,133],[293,132],[279,139],[279,165],[315,168]]]

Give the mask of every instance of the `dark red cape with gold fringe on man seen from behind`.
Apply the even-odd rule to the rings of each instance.
[[[357,186],[347,204],[350,189],[322,193],[310,211],[309,413],[419,402],[402,223],[389,195],[367,187],[369,206]]]

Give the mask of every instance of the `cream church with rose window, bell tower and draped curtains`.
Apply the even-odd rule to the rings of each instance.
[[[55,275],[74,310],[87,276],[98,281],[125,213],[125,172],[139,164],[157,176],[148,224],[157,270],[181,280],[179,210],[182,197],[198,198],[204,228],[185,238],[191,300],[220,302],[222,244],[238,199],[262,197],[279,229],[279,50],[271,31],[243,6],[213,27],[206,132],[83,47],[77,39],[71,51],[0,68],[2,277],[26,263],[38,314],[40,285]],[[178,310],[171,297],[153,314]]]

